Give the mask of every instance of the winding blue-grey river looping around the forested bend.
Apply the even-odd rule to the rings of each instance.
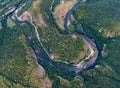
[[[45,49],[44,49],[44,47],[43,47],[43,45],[42,45],[42,43],[41,43],[41,41],[40,41],[40,39],[38,37],[37,37],[37,39],[39,40],[42,48],[39,48],[37,50],[34,48],[34,43],[33,43],[34,42],[34,40],[33,40],[33,33],[34,32],[33,32],[32,28],[30,29],[31,30],[31,35],[30,36],[26,36],[26,38],[29,41],[30,46],[33,49],[33,51],[34,51],[34,53],[35,53],[35,55],[36,55],[37,58],[40,58],[41,60],[45,61],[49,65],[52,65],[52,66],[54,66],[56,68],[61,68],[61,69],[65,69],[65,70],[68,70],[68,71],[81,72],[81,71],[86,70],[86,69],[88,69],[88,68],[90,68],[91,66],[94,65],[95,61],[97,60],[99,52],[98,52],[98,49],[96,47],[96,43],[94,42],[93,39],[91,39],[90,37],[86,36],[83,33],[71,33],[69,31],[68,22],[70,20],[70,16],[72,14],[72,11],[74,10],[74,8],[77,5],[78,5],[78,1],[67,12],[66,17],[65,17],[65,30],[64,31],[66,32],[66,34],[75,34],[77,36],[82,37],[88,43],[88,45],[90,47],[94,48],[94,50],[93,50],[93,48],[91,48],[92,57],[90,56],[91,58],[90,57],[89,58],[88,57],[85,58],[85,60],[88,60],[87,62],[85,62],[83,60],[80,63],[78,63],[76,65],[73,65],[73,66],[67,66],[67,65],[57,64],[57,62],[51,60],[50,57],[49,57],[49,55],[47,53],[45,53],[46,51],[45,51]],[[15,10],[18,10],[18,9],[19,8],[17,6],[16,9],[14,9],[13,11],[10,11],[10,13],[12,13],[12,15],[9,15],[9,13],[7,13],[7,15],[11,16],[11,19],[15,23],[17,23],[19,25],[22,25],[23,23],[24,24],[28,24],[29,26],[33,26],[34,29],[35,29],[35,31],[37,31],[37,28],[35,27],[35,25],[33,23],[26,23],[25,21],[22,22],[21,20],[18,19],[18,17],[15,16],[14,12],[15,12]],[[44,52],[42,52],[42,51],[44,51]],[[46,57],[46,55],[48,55],[48,56]]]

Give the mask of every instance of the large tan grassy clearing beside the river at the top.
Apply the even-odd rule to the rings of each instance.
[[[60,4],[55,7],[55,11],[53,12],[54,18],[61,29],[64,29],[64,18],[66,13],[75,2],[76,0],[62,0]]]

